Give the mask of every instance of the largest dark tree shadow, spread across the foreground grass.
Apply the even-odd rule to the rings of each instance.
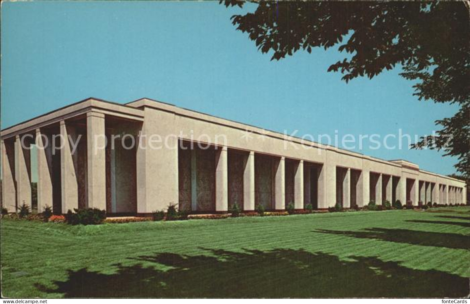
[[[136,258],[169,267],[166,271],[118,264],[114,274],[70,270],[55,288],[37,287],[65,297],[461,297],[469,292],[467,278],[374,257],[342,261],[303,250],[207,251],[211,256],[165,252]]]

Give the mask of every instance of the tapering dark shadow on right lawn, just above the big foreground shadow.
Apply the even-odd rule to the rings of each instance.
[[[469,237],[454,233],[387,228],[365,228],[363,231],[338,231],[317,229],[313,230],[313,232],[334,234],[339,236],[352,236],[357,238],[374,239],[394,243],[407,243],[421,246],[446,247],[452,249],[470,249]]]

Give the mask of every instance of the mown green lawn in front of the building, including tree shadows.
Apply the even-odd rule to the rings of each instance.
[[[99,226],[2,220],[1,289],[8,297],[459,297],[469,294],[469,235],[468,207]]]

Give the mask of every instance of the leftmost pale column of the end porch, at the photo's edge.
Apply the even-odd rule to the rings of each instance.
[[[1,140],[2,206],[16,211],[15,145]]]

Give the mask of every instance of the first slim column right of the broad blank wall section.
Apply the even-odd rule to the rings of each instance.
[[[228,165],[227,147],[215,151],[215,211],[228,210]]]

